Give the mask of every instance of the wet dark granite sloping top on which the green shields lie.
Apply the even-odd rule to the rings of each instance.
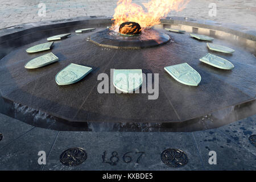
[[[95,26],[95,23],[86,24],[85,27]],[[104,26],[96,26],[96,31],[102,30]],[[209,52],[206,42],[193,39],[188,33],[166,32],[171,41],[159,47],[118,50],[102,48],[86,41],[93,32],[75,34],[74,31],[81,28],[81,24],[76,26],[73,22],[72,26],[63,28],[60,28],[60,24],[54,24],[48,29],[47,26],[44,28],[44,31],[7,41],[12,47],[9,51],[6,51],[6,42],[2,42],[1,47],[5,49],[1,49],[1,53],[5,55],[9,52],[0,61],[0,90],[3,98],[68,121],[154,123],[188,121],[255,100],[255,57],[240,44],[214,40],[214,43],[235,49],[233,55],[215,52],[234,64],[232,71],[224,71],[200,63],[199,58]],[[47,36],[68,32],[72,32],[72,35],[56,41],[51,50],[60,61],[35,70],[24,68],[27,61],[50,52],[29,54],[26,48],[46,42]],[[17,44],[14,46],[11,42]],[[180,84],[163,69],[185,62],[200,73],[202,80],[199,86]],[[69,63],[92,67],[93,71],[76,84],[58,86],[55,75]],[[158,99],[148,100],[149,93],[98,93],[98,74],[106,73],[110,77],[110,69],[113,68],[159,73]]]

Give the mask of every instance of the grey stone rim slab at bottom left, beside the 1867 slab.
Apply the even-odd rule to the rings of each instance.
[[[16,122],[19,124],[22,122]],[[14,124],[15,125],[15,124]],[[49,154],[57,131],[34,128],[0,150],[0,170],[40,170],[38,152]]]

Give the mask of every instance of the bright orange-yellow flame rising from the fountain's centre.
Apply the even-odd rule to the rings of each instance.
[[[132,0],[119,0],[113,15],[114,24],[111,29],[118,32],[120,24],[123,22],[137,22],[142,28],[152,27],[160,23],[160,18],[164,18],[170,11],[183,10],[190,0],[151,0],[142,3],[147,9],[132,3]]]

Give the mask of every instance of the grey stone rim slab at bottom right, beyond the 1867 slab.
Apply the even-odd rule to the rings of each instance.
[[[207,170],[255,170],[256,156],[248,152],[241,144],[233,142],[218,129],[193,133],[201,158]],[[209,152],[215,151],[217,164],[209,164]]]

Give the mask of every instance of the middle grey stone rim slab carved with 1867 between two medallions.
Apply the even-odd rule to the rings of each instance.
[[[87,159],[80,166],[67,167],[59,161],[68,148],[81,147]],[[188,163],[181,168],[168,167],[160,158],[167,148],[177,148],[188,156]],[[105,163],[102,155],[105,153]],[[110,162],[118,153],[118,162]],[[129,152],[129,153],[128,153]],[[136,154],[137,152],[137,154]],[[139,152],[144,152],[142,157]],[[123,156],[126,154],[125,156]],[[130,158],[131,157],[131,162]],[[123,159],[124,157],[124,159]],[[116,161],[117,158],[112,158]],[[124,162],[126,160],[126,162]],[[138,160],[138,163],[137,163]],[[129,162],[129,163],[128,163]],[[44,170],[195,170],[204,169],[191,133],[94,133],[60,132]]]

